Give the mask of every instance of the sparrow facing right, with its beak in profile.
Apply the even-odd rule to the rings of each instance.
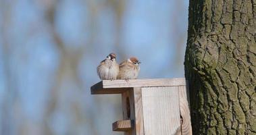
[[[140,71],[140,61],[136,57],[130,57],[126,61],[120,63],[118,79],[136,79]]]

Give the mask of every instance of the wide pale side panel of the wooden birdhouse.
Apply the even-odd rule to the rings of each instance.
[[[142,88],[145,135],[180,134],[177,86]]]

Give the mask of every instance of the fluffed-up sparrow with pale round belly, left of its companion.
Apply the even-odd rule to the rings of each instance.
[[[101,80],[116,80],[119,73],[119,65],[116,62],[116,54],[110,53],[97,67],[97,73]]]

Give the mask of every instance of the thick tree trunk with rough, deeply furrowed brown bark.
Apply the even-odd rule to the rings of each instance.
[[[256,0],[190,0],[193,134],[256,134]]]

